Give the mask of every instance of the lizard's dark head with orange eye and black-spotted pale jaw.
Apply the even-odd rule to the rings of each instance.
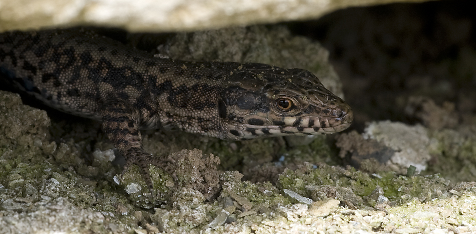
[[[350,106],[306,70],[243,64],[226,82],[218,109],[228,139],[331,134],[353,120]]]

